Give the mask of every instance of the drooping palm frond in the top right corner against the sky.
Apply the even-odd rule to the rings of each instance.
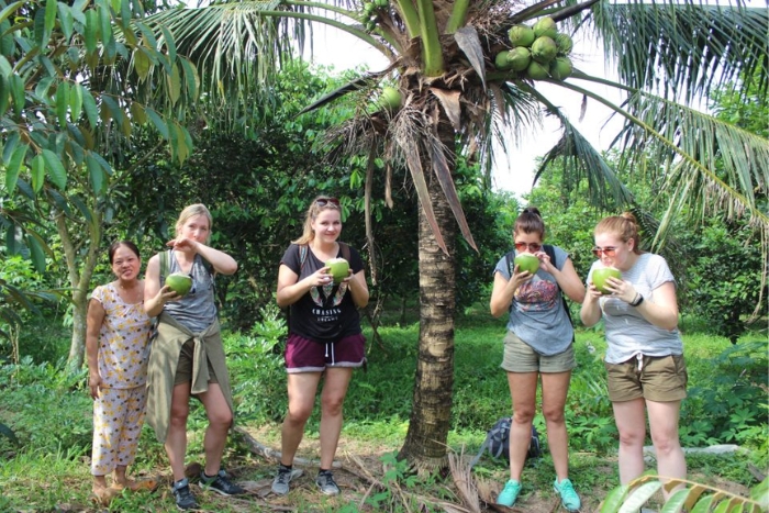
[[[600,2],[593,8],[597,35],[618,63],[620,80],[658,90],[687,103],[758,70],[767,94],[767,9],[704,0]]]

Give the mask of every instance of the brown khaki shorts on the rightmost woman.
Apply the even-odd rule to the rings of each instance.
[[[687,364],[681,355],[643,356],[624,364],[608,364],[606,384],[612,402],[644,398],[656,402],[680,401],[687,397]]]

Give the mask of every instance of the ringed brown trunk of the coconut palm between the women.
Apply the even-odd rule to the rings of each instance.
[[[453,148],[450,137],[453,135],[449,135],[447,147]],[[435,219],[448,255],[438,247],[424,211],[420,209],[420,353],[409,432],[399,454],[400,459],[406,459],[419,472],[430,472],[447,465],[446,440],[454,388],[454,246],[457,224],[441,185],[432,172],[428,176]]]

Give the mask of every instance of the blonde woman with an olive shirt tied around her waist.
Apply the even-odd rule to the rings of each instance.
[[[230,378],[214,303],[216,274],[232,275],[237,263],[226,253],[208,246],[212,218],[202,204],[187,207],[176,223],[176,238],[161,266],[160,255],[147,264],[144,306],[158,316],[157,338],[149,357],[147,423],[165,443],[174,473],[171,487],[179,510],[196,510],[198,502],[185,477],[187,416],[190,397],[205,408],[209,426],[203,449],[205,467],[200,488],[222,495],[244,493],[221,469],[227,431],[233,422]],[[192,277],[192,289],[179,297],[167,285],[165,275],[183,272]]]

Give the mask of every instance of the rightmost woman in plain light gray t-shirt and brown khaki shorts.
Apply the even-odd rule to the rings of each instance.
[[[620,432],[620,481],[644,472],[646,412],[657,451],[657,473],[687,477],[678,436],[681,400],[687,397],[687,366],[678,332],[676,282],[659,255],[642,253],[638,225],[626,212],[603,219],[593,232],[593,263],[580,316],[586,326],[601,317],[606,332],[609,399]],[[593,283],[598,269],[614,267],[622,279]],[[595,275],[598,277],[598,275]],[[665,490],[666,499],[672,491]]]

